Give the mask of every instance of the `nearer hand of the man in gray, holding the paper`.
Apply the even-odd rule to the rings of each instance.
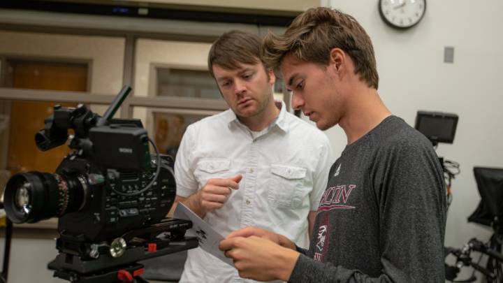
[[[225,256],[233,259],[234,266],[242,278],[288,281],[299,253],[268,240],[270,234],[264,234],[264,238],[256,235],[248,238],[226,238],[220,242],[219,249],[225,252]]]

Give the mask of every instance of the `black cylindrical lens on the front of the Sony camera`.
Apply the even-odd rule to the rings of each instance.
[[[8,180],[3,196],[7,217],[14,223],[34,223],[82,208],[86,178],[29,172]]]

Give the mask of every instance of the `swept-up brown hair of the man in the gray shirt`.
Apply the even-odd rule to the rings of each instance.
[[[333,48],[344,50],[353,60],[360,80],[377,89],[379,75],[372,41],[354,17],[340,10],[306,10],[293,20],[284,35],[265,36],[261,52],[263,61],[277,70],[288,54],[326,66]]]

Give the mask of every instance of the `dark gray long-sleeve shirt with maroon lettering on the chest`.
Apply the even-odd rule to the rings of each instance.
[[[445,282],[445,222],[430,141],[388,117],[333,164],[289,282]]]

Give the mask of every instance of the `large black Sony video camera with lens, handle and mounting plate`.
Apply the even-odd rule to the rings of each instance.
[[[54,174],[19,173],[6,184],[12,222],[59,217],[54,277],[132,282],[143,272],[136,261],[197,246],[184,236],[191,222],[165,219],[176,194],[173,159],[159,154],[140,120],[112,119],[130,91],[124,87],[103,117],[84,105],[54,106],[36,145],[45,151],[68,140],[73,152]]]

